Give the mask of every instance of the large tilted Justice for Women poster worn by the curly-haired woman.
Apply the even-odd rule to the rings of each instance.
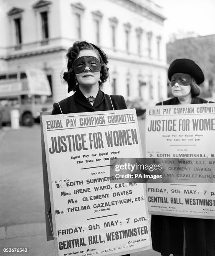
[[[135,110],[42,120],[56,255],[152,248],[145,185],[113,184],[110,176],[111,160],[142,157]]]

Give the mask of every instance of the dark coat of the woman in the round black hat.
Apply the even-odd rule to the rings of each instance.
[[[199,97],[193,97],[191,104],[207,103]],[[213,102],[209,102],[213,103]],[[156,105],[180,104],[177,97]],[[215,255],[215,220],[170,217],[152,215],[152,247],[163,256],[170,253],[182,255],[185,227],[186,256]]]

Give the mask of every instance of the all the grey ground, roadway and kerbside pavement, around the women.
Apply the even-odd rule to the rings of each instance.
[[[144,120],[139,120],[143,127]],[[140,129],[141,137],[143,130]],[[142,143],[143,145],[143,143]],[[53,256],[46,241],[40,126],[0,129],[0,256],[3,248],[29,248],[30,256]],[[159,256],[154,250],[131,256]]]

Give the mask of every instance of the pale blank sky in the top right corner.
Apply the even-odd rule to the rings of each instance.
[[[167,39],[172,33],[215,34],[215,0],[155,0],[163,6]]]

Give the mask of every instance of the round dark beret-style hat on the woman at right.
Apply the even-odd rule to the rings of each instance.
[[[168,78],[170,81],[172,75],[175,73],[189,74],[195,79],[197,84],[201,84],[205,80],[202,69],[191,59],[175,59],[168,69]]]

